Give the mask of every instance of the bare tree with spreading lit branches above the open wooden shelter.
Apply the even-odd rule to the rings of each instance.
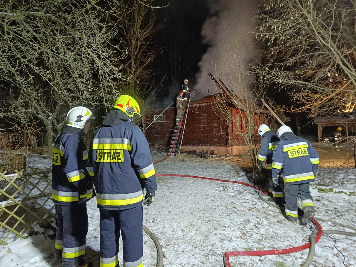
[[[355,1],[263,0],[260,8],[259,83],[286,90],[286,110],[309,117],[354,110]]]

